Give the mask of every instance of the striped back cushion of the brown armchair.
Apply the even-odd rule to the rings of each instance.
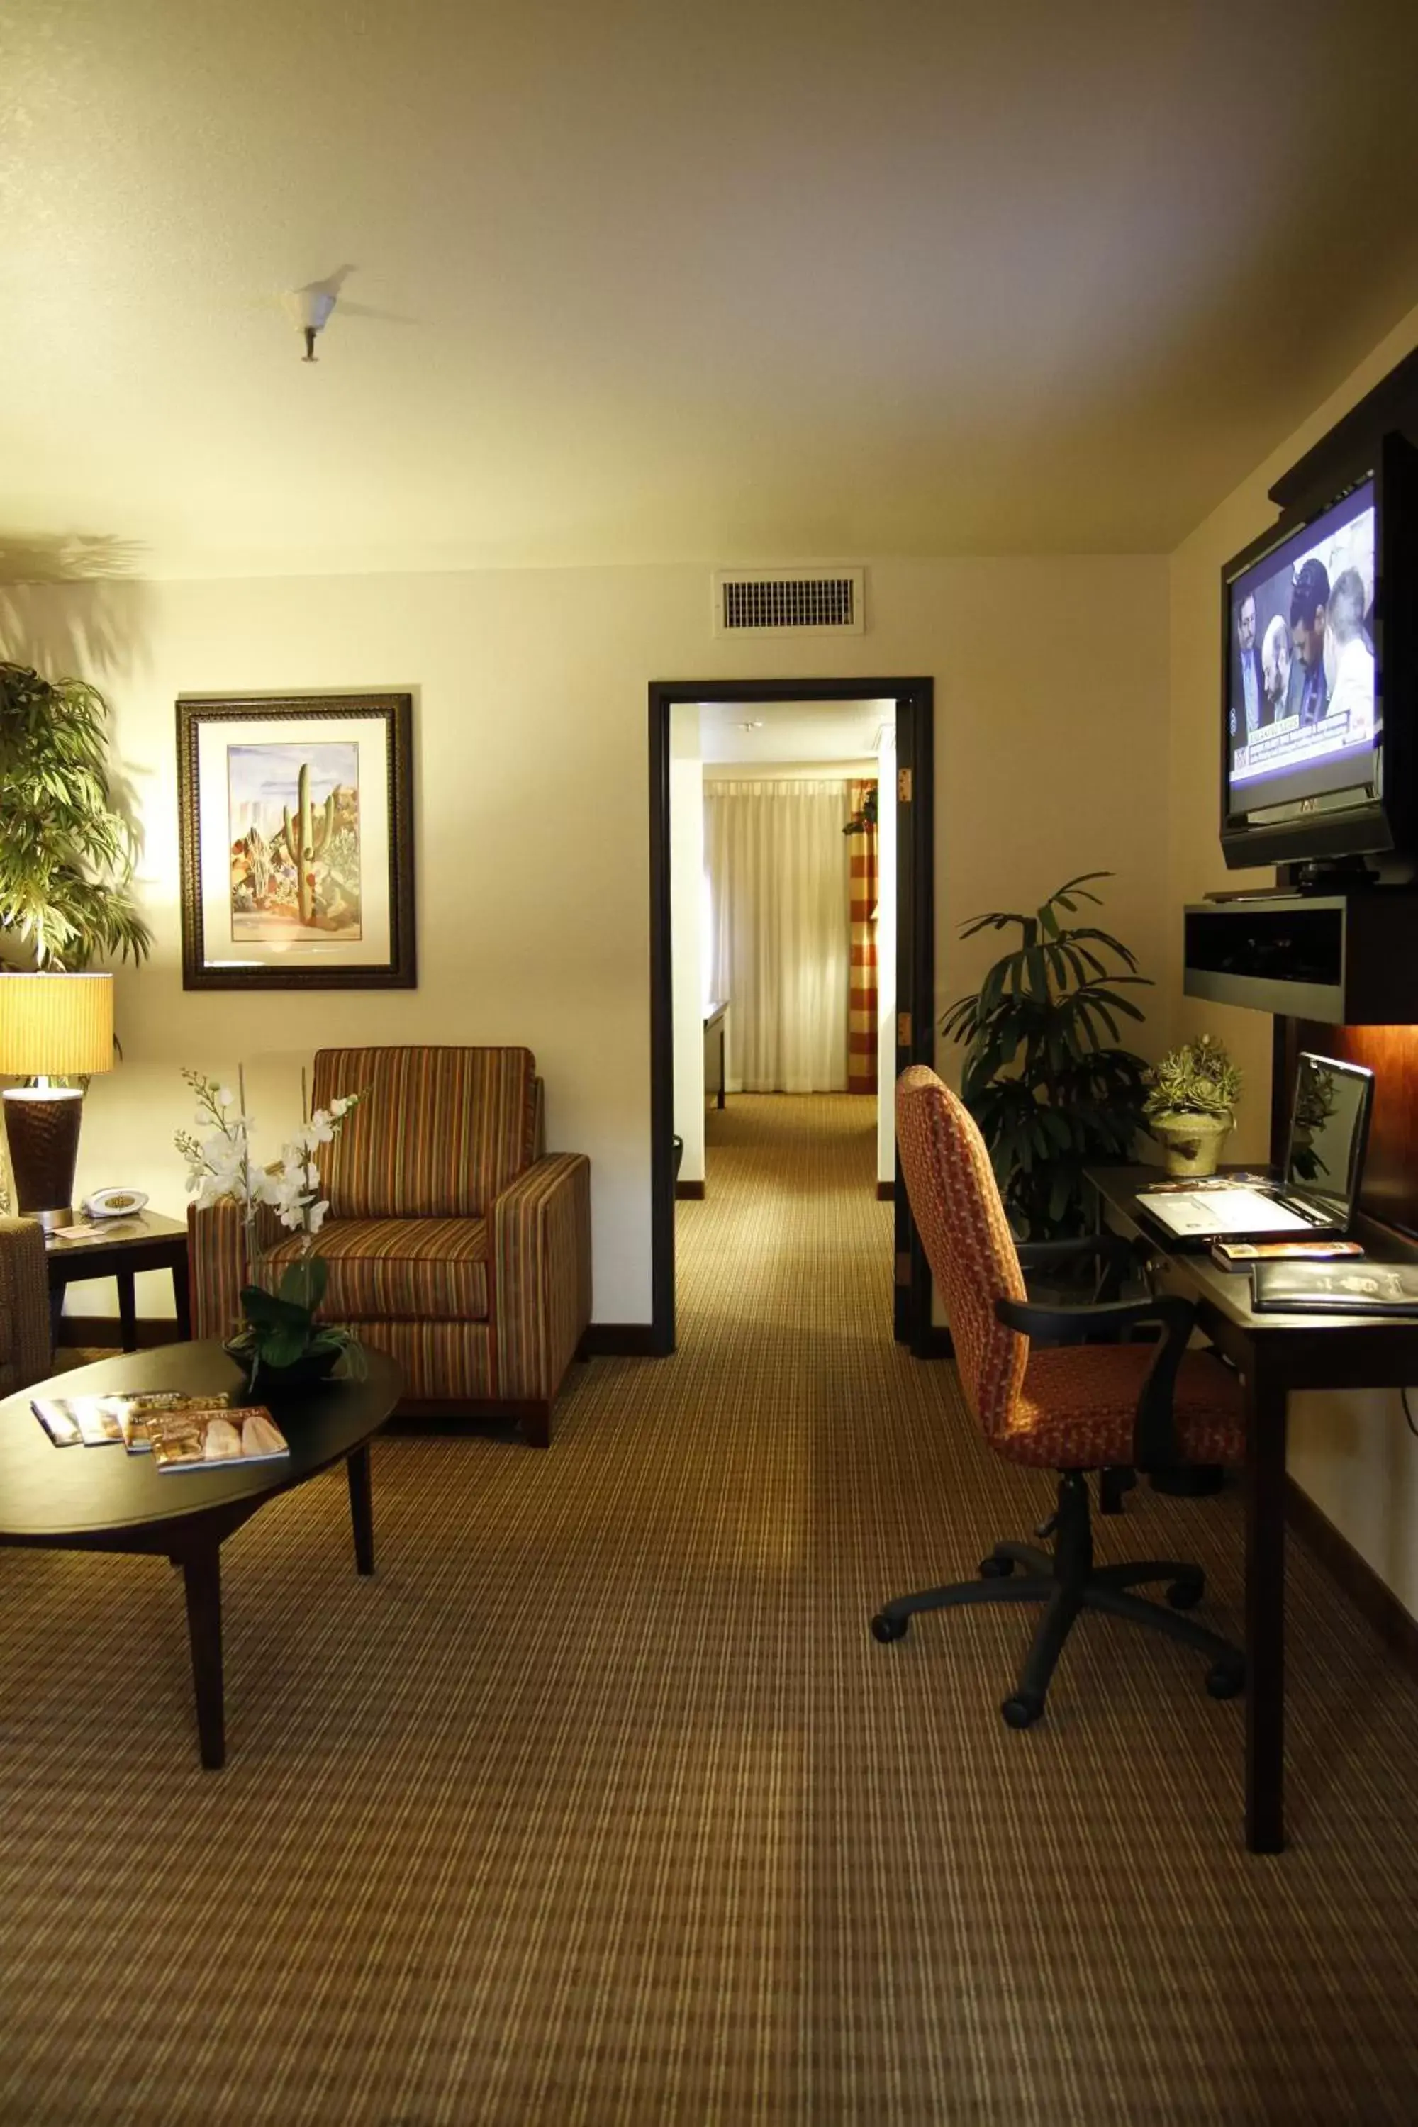
[[[531,1161],[529,1049],[321,1049],[315,1106],[364,1093],[319,1149],[332,1219],[483,1219]]]

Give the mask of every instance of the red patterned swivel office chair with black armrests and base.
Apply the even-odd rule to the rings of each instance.
[[[1210,1659],[1212,1697],[1231,1697],[1246,1680],[1244,1655],[1178,1614],[1201,1600],[1201,1568],[1176,1559],[1095,1565],[1086,1472],[1133,1466],[1165,1491],[1169,1474],[1184,1466],[1237,1463],[1244,1431],[1235,1376],[1210,1353],[1186,1349],[1193,1327],[1186,1300],[1031,1306],[1020,1263],[1035,1268],[1037,1259],[1057,1263],[1061,1253],[1105,1253],[1116,1240],[1099,1236],[1065,1244],[1065,1251],[1052,1242],[1016,1249],[974,1117],[923,1064],[897,1083],[897,1142],[912,1217],[950,1314],[965,1400],[999,1455],[1059,1470],[1059,1504],[1040,1531],[1054,1536],[1052,1557],[1033,1544],[995,1544],[980,1563],[980,1580],[897,1595],[872,1619],[872,1631],[878,1640],[899,1640],[918,1610],[1042,1602],[1044,1617],[1018,1687],[999,1708],[1010,1727],[1029,1727],[1044,1712],[1048,1682],[1080,1610],[1108,1610],[1195,1646]],[[1154,1325],[1161,1336],[1146,1344],[1082,1342],[1142,1325]],[[1031,1338],[1065,1342],[1040,1349]],[[1171,1608],[1129,1593],[1148,1580],[1169,1582]]]

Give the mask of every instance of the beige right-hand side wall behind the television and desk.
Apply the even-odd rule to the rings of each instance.
[[[1276,519],[1267,487],[1418,345],[1418,311],[1388,334],[1310,421],[1216,508],[1171,557],[1171,849],[1169,906],[1208,887],[1269,883],[1273,872],[1233,872],[1218,842],[1218,606],[1220,566]],[[1169,925],[1174,1038],[1210,1027],[1246,1070],[1237,1136],[1227,1146],[1259,1159],[1269,1144],[1269,1036],[1265,1012],[1182,995],[1182,929]],[[1382,1089],[1380,1089],[1382,1098]],[[1397,1395],[1301,1395],[1290,1402],[1290,1472],[1312,1500],[1418,1612],[1418,1442]]]

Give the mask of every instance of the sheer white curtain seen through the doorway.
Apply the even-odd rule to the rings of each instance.
[[[731,1091],[846,1091],[846,821],[840,781],[704,783],[710,989],[729,1000]]]

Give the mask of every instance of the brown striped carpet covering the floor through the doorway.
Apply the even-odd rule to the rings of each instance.
[[[1027,1614],[876,1646],[1048,1480],[889,1338],[872,1102],[708,1127],[676,1359],[381,1442],[370,1582],[338,1476],[230,1542],[223,1774],[166,1563],[0,1553],[0,2121],[1418,2118],[1414,1685],[1293,1546],[1259,1861],[1182,1648],[1084,1619],[1018,1736]],[[1099,1548],[1237,1629],[1235,1500]]]

